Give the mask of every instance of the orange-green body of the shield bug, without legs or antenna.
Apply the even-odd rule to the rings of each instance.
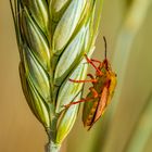
[[[111,68],[103,65],[101,72],[103,75],[97,76],[98,83],[93,84],[98,97],[93,98],[92,92],[89,92],[87,99],[90,100],[84,105],[83,122],[84,126],[88,126],[89,129],[103,115],[116,86],[116,75]]]

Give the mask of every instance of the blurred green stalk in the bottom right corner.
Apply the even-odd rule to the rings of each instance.
[[[130,140],[126,144],[126,152],[144,152],[145,144],[152,135],[152,96],[145,102]]]

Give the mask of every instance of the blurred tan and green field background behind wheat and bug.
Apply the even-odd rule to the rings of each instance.
[[[114,99],[89,132],[79,113],[61,152],[152,152],[152,0],[104,0],[93,54],[100,60],[102,35],[118,75]],[[9,0],[1,0],[0,152],[42,152],[47,136],[24,99],[18,61]]]

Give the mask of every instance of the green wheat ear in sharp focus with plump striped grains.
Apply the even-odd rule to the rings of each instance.
[[[20,50],[20,75],[27,103],[58,152],[72,129],[89,56],[101,17],[102,0],[10,0]],[[97,7],[98,5],[98,7]]]

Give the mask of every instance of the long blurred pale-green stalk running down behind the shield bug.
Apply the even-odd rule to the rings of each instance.
[[[114,97],[113,110],[111,110],[109,121],[106,124],[106,138],[104,141],[104,145],[102,147],[102,152],[110,152],[114,149],[114,130],[113,130],[113,122],[112,117],[116,111],[118,102],[121,102],[121,94],[124,85],[124,79],[126,75],[126,69],[128,65],[129,55],[131,52],[132,42],[144,23],[144,18],[147,16],[147,12],[151,4],[151,0],[134,0],[130,9],[128,10],[125,22],[122,25],[119,30],[115,54],[113,59],[113,66],[117,73],[117,89]]]

